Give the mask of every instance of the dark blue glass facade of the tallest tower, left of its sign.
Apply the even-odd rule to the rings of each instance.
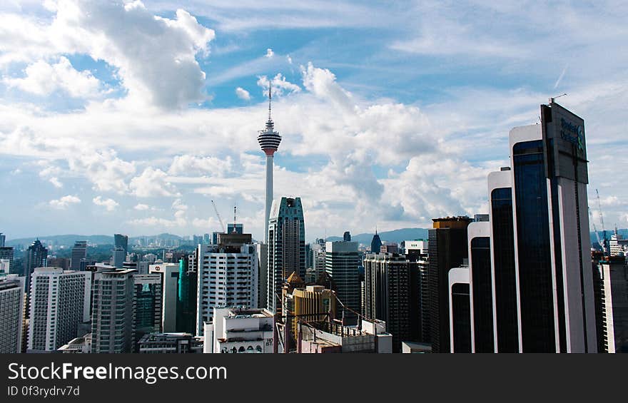
[[[554,299],[547,179],[541,140],[512,149],[523,352],[554,352]]]

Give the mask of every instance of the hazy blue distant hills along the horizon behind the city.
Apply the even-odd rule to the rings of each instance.
[[[613,230],[607,230],[607,238],[610,239],[613,234]],[[622,228],[621,230],[617,230],[619,235],[622,235],[624,239],[628,238],[628,229]],[[598,231],[599,238],[604,239],[604,234],[602,231]],[[416,239],[427,239],[427,228],[401,228],[399,230],[392,231],[383,231],[379,233],[382,241],[400,243],[403,240],[416,240]],[[136,240],[139,239],[161,239],[161,240],[183,240],[183,237],[178,235],[163,233],[159,235],[143,235],[139,237],[130,237],[128,238],[129,245],[136,245]],[[6,241],[6,246],[16,246],[16,245],[30,245],[37,238],[19,238],[12,239]],[[71,246],[74,245],[74,242],[77,240],[86,240],[88,243],[94,245],[113,245],[113,236],[111,235],[48,235],[39,237],[39,240],[45,241],[46,243],[50,243],[52,245],[61,246]],[[343,240],[343,237],[331,236],[328,237],[327,240]],[[373,233],[362,233],[358,235],[351,235],[351,240],[357,243],[363,243],[365,245],[370,245],[370,241],[373,240]],[[591,243],[597,243],[597,238],[595,237],[595,233],[591,233]]]

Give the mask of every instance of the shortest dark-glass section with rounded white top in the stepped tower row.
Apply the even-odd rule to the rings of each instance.
[[[449,352],[472,352],[471,296],[469,267],[454,267],[449,270]],[[432,344],[433,348],[433,344]],[[440,346],[440,352],[442,346]]]

